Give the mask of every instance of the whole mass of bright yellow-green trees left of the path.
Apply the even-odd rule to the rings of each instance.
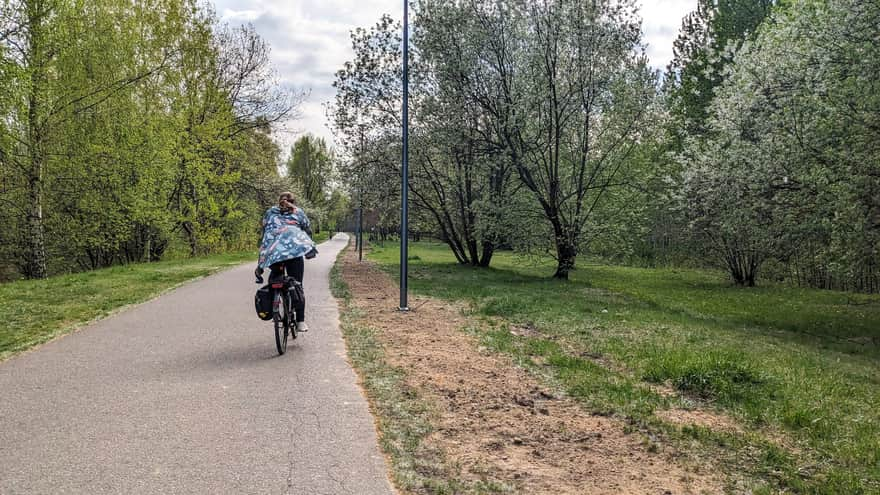
[[[195,0],[0,11],[4,278],[253,244],[283,187],[271,125],[298,100],[252,27]]]

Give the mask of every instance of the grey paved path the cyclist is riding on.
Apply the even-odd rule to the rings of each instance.
[[[328,273],[277,356],[253,264],[0,363],[0,493],[392,493]]]

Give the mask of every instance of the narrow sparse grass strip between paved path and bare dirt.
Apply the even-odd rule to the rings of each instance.
[[[391,366],[385,350],[351,302],[341,274],[341,259],[330,274],[330,288],[341,301],[341,329],[348,356],[360,375],[377,418],[380,445],[391,461],[394,484],[405,493],[489,494],[504,487],[489,482],[463,482],[443,453],[428,446],[434,415],[430,405],[406,384],[403,370]]]

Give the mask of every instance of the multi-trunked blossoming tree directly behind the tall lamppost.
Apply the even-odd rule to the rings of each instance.
[[[462,83],[468,67],[456,22],[466,12],[442,2],[420,6],[411,52],[410,192],[414,218],[431,218],[463,264],[488,266],[497,235],[486,215],[507,192],[510,166],[503,150],[481,136],[480,108]],[[335,131],[350,160],[343,168],[355,204],[397,216],[399,183],[400,39],[388,17],[352,33],[355,59],[337,73]],[[395,177],[396,176],[396,177]],[[381,206],[380,206],[381,205]]]

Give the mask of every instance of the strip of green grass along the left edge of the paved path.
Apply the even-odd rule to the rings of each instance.
[[[0,284],[0,360],[256,254],[139,263]]]

